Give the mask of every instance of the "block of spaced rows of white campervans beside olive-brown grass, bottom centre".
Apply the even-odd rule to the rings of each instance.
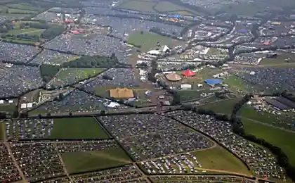
[[[196,167],[202,168],[202,164],[199,163],[196,156],[192,153],[185,153],[176,156],[165,156],[163,158],[157,158],[155,160],[148,160],[141,163],[143,168],[150,173],[197,173],[201,170],[197,170]]]

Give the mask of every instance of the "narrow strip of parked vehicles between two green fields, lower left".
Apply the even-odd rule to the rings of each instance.
[[[114,139],[93,141],[58,141],[56,142],[59,153],[99,151],[104,149],[117,149],[118,145]]]

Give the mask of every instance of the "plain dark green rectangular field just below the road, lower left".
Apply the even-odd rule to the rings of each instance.
[[[55,119],[51,132],[53,139],[105,139],[105,131],[93,118]]]

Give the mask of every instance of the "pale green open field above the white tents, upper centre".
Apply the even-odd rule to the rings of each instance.
[[[142,51],[150,51],[151,49],[157,48],[157,41],[163,46],[171,46],[173,43],[173,39],[170,39],[169,37],[164,37],[151,32],[143,32],[143,34],[140,34],[139,31],[131,33],[127,40],[129,44],[141,46],[140,49]]]

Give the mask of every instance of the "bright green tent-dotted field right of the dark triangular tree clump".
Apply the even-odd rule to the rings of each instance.
[[[63,68],[58,75],[56,75],[57,80],[67,80],[69,77],[74,77],[77,81],[84,80],[89,77],[98,75],[103,72],[104,68]]]

